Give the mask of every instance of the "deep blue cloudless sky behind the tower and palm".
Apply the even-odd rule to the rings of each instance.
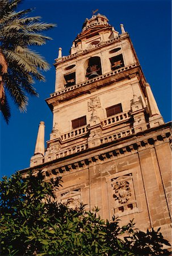
[[[124,24],[160,112],[165,122],[171,120],[171,1],[26,0],[19,10],[31,7],[35,7],[31,16],[39,15],[44,22],[57,24],[45,33],[53,40],[36,48],[51,69],[44,73],[46,82],[36,82],[39,98],[29,97],[27,113],[20,113],[10,101],[9,125],[1,117],[1,177],[30,166],[40,121],[45,122],[45,141],[49,140],[52,113],[45,98],[54,92],[54,59],[59,47],[62,55],[69,55],[74,38],[84,20],[91,18],[92,10],[99,9],[98,13],[106,15],[119,32],[120,24]]]

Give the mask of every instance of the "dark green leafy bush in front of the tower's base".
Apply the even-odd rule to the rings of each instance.
[[[98,208],[86,212],[57,203],[61,178],[19,172],[3,177],[0,193],[1,255],[168,255],[160,229],[146,233],[133,221],[119,225],[100,219]],[[54,199],[54,200],[53,200]]]

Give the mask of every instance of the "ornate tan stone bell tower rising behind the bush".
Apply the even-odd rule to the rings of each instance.
[[[129,35],[104,15],[83,23],[69,56],[59,48],[55,92],[46,101],[53,129],[44,149],[40,122],[31,169],[62,176],[57,199],[100,208],[123,224],[161,226],[170,240],[171,130],[164,123]],[[27,170],[23,170],[26,172]]]

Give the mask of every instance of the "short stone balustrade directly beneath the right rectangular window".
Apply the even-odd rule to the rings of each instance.
[[[113,123],[119,123],[121,121],[126,121],[127,119],[129,119],[129,113],[128,112],[123,112],[123,113],[119,113],[116,115],[111,115],[111,117],[107,117],[106,119],[103,119],[102,126],[106,127],[108,125],[112,125]]]

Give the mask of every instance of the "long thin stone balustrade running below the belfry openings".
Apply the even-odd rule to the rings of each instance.
[[[87,84],[90,84],[91,82],[95,82],[95,81],[98,81],[98,80],[101,80],[101,79],[105,79],[106,77],[110,77],[110,76],[113,76],[113,75],[116,75],[118,73],[121,73],[123,71],[126,71],[130,68],[135,68],[136,67],[136,64],[131,64],[131,65],[128,65],[128,66],[125,66],[125,67],[122,67],[122,68],[119,68],[119,69],[116,69],[115,71],[111,71],[109,73],[106,73],[104,75],[100,75],[100,76],[97,76],[97,77],[94,77],[93,79],[89,79],[85,82],[81,82],[80,84],[76,84],[76,85],[73,85],[73,86],[70,86],[66,89],[63,89],[63,90],[59,90],[58,92],[54,92],[54,93],[51,93],[51,98],[54,97],[54,96],[58,96],[60,94],[63,94],[63,93],[67,93],[67,92],[70,92],[71,90],[74,90],[74,89],[77,89],[77,88],[80,88],[82,86],[85,86]]]

